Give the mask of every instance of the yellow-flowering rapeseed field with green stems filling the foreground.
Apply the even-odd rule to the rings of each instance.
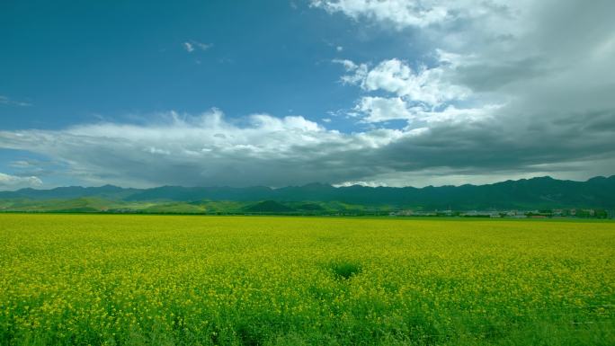
[[[615,223],[0,215],[3,345],[613,345]]]

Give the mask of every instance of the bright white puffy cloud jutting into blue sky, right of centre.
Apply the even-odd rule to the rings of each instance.
[[[441,65],[421,67],[414,72],[405,62],[393,58],[376,67],[355,64],[351,60],[334,60],[352,75],[341,77],[345,84],[357,84],[366,92],[385,92],[394,96],[363,96],[354,110],[363,114],[362,122],[378,123],[388,120],[408,121],[477,121],[488,118],[488,112],[499,105],[486,103],[478,107],[461,107],[473,93],[465,86],[452,82],[460,63],[457,56],[438,51]]]

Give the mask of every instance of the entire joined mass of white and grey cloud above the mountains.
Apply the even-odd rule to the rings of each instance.
[[[347,121],[368,129],[170,111],[144,124],[0,131],[0,147],[60,161],[85,184],[134,187],[422,186],[614,173],[614,2],[322,0],[311,10],[428,47],[421,59],[332,59],[340,67],[332,79],[361,93]]]

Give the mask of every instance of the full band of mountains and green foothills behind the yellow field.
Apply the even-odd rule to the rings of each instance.
[[[382,206],[416,209],[548,209],[615,208],[615,176],[595,177],[586,182],[550,177],[497,182],[486,185],[390,188],[349,186],[335,188],[322,183],[280,189],[256,186],[177,187],[124,189],[67,187],[51,190],[0,191],[0,210],[74,208],[147,209],[166,205],[178,212],[323,212],[344,209],[374,209]],[[94,202],[102,200],[103,202]],[[256,203],[257,201],[263,201]],[[178,204],[179,203],[179,204]],[[188,204],[189,206],[183,205]],[[223,205],[222,203],[226,203]],[[94,205],[93,206],[91,206]],[[206,204],[208,204],[206,206]],[[331,206],[337,206],[331,208]],[[247,207],[246,207],[247,206]],[[163,208],[165,209],[165,208]],[[160,210],[160,207],[148,210]]]

